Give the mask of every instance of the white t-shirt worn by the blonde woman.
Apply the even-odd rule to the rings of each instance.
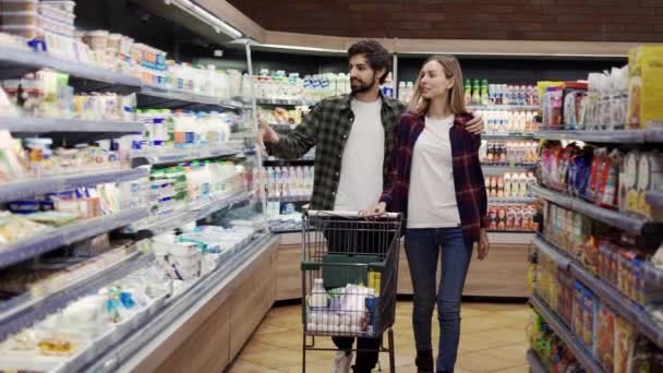
[[[449,140],[453,125],[454,116],[425,119],[412,155],[408,228],[450,228],[460,224]]]

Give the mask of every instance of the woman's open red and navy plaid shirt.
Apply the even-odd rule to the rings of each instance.
[[[479,160],[481,136],[466,131],[470,115],[457,115],[449,130],[456,186],[456,203],[466,243],[479,241],[481,228],[486,227],[487,197],[483,171]],[[379,198],[390,212],[407,214],[410,188],[410,171],[414,144],[423,132],[424,117],[405,113],[394,131],[394,149],[389,159],[389,171]]]

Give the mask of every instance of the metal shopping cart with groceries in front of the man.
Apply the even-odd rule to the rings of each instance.
[[[389,353],[394,372],[400,229],[400,214],[369,220],[359,213],[303,212],[303,372],[306,351],[336,351],[316,347],[316,336],[382,338],[385,330],[388,347],[381,341],[377,351]]]

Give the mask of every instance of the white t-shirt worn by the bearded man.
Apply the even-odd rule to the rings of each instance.
[[[354,122],[343,149],[340,180],[334,209],[358,212],[370,209],[383,189],[385,130],[382,125],[382,99],[362,103],[352,99]]]

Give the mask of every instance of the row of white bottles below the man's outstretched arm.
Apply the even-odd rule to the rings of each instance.
[[[310,196],[313,176],[313,166],[265,167],[260,171],[254,169],[256,190],[267,197]]]

